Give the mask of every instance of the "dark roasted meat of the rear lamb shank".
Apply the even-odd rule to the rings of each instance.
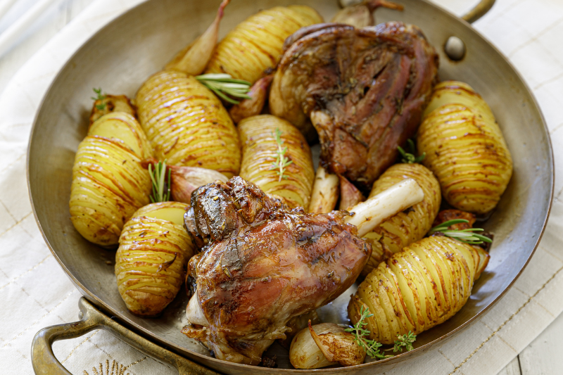
[[[367,191],[415,134],[437,68],[414,25],[304,27],[286,40],[270,110],[304,133],[310,118],[323,165]]]

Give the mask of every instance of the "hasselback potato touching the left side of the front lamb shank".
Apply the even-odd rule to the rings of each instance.
[[[194,242],[184,229],[189,205],[152,203],[125,224],[115,254],[115,277],[121,298],[134,314],[153,317],[182,286]]]

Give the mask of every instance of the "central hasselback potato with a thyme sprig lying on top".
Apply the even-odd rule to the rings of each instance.
[[[282,144],[276,141],[280,132]],[[248,117],[239,122],[243,157],[241,177],[257,184],[266,193],[284,198],[290,207],[309,207],[315,170],[311,151],[303,134],[286,120],[272,115]],[[291,161],[279,177],[279,148],[287,148],[284,157]]]

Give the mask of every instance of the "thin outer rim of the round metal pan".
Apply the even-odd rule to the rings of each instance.
[[[189,349],[186,349],[186,348],[180,348],[177,344],[172,343],[170,341],[167,341],[163,337],[157,336],[155,333],[149,331],[148,329],[145,329],[142,326],[135,324],[134,322],[127,319],[127,317],[123,317],[119,312],[113,310],[113,308],[110,307],[105,301],[103,301],[101,298],[94,295],[94,293],[89,291],[89,289],[87,289],[84,285],[82,285],[80,283],[80,281],[78,281],[76,279],[76,277],[72,274],[72,272],[70,272],[70,270],[65,266],[65,264],[58,257],[56,251],[53,249],[53,246],[51,246],[51,243],[49,243],[49,239],[47,238],[47,236],[44,232],[42,224],[41,224],[41,222],[39,222],[39,217],[37,215],[37,211],[35,209],[35,205],[34,205],[34,201],[33,201],[32,190],[31,190],[32,184],[30,183],[30,153],[31,153],[31,149],[32,149],[32,141],[34,139],[34,132],[35,132],[36,127],[37,127],[37,121],[38,121],[39,113],[41,112],[41,109],[44,106],[44,102],[46,100],[46,97],[49,94],[49,91],[51,91],[53,85],[55,84],[55,82],[57,82],[58,78],[61,76],[61,74],[65,70],[65,68],[67,68],[68,65],[70,65],[70,62],[75,58],[75,56],[77,56],[78,53],[80,53],[82,51],[82,49],[85,48],[86,44],[88,44],[91,41],[91,39],[94,39],[94,37],[96,37],[98,34],[103,32],[103,30],[105,30],[111,24],[118,22],[118,20],[120,20],[120,18],[123,18],[125,15],[127,15],[127,13],[132,12],[132,11],[134,11],[135,9],[137,9],[141,6],[144,6],[144,4],[146,4],[148,1],[149,0],[141,1],[136,6],[129,8],[124,13],[122,13],[122,14],[118,15],[117,17],[113,18],[112,20],[110,20],[108,23],[106,23],[106,25],[101,27],[94,34],[91,34],[91,36],[87,39],[87,41],[82,43],[80,45],[80,47],[72,53],[72,55],[68,58],[68,60],[63,64],[61,69],[58,70],[55,77],[53,77],[53,80],[49,84],[48,89],[46,89],[44,96],[42,97],[41,101],[39,102],[39,105],[37,106],[37,110],[34,114],[34,119],[33,119],[33,122],[32,122],[32,128],[30,130],[29,141],[28,141],[28,144],[27,144],[27,151],[26,151],[26,158],[27,158],[27,160],[26,160],[27,193],[29,195],[30,203],[32,205],[32,212],[33,212],[33,215],[34,215],[35,222],[37,223],[37,226],[39,227],[39,231],[41,231],[43,239],[44,239],[46,245],[49,247],[51,254],[53,254],[53,257],[57,260],[58,264],[63,268],[65,274],[67,274],[67,276],[71,279],[72,283],[75,284],[75,286],[77,286],[77,288],[80,289],[82,295],[87,297],[87,299],[90,300],[92,303],[94,303],[94,305],[96,305],[97,307],[100,307],[105,312],[111,312],[112,314],[115,314],[116,317],[118,317],[118,319],[120,320],[120,322],[122,322],[122,324],[125,326],[125,328],[127,328],[127,329],[129,329],[133,332],[141,334],[141,336],[148,339],[149,341],[153,341],[153,342],[156,341],[156,343],[158,345],[162,346],[163,348],[167,348],[168,350],[172,350],[173,352],[176,352],[177,354],[182,355],[182,357],[186,357],[186,355],[184,355],[184,352],[190,352],[190,354],[192,356],[201,358],[205,361],[215,362],[215,364],[217,364],[218,366],[220,366],[221,364],[229,364],[229,366],[232,365],[232,366],[238,368],[239,370],[243,370],[243,371],[245,369],[248,369],[249,367],[251,367],[251,368],[256,369],[258,371],[260,371],[260,369],[263,369],[264,371],[267,371],[269,373],[274,373],[274,374],[277,373],[277,372],[279,372],[279,373],[281,373],[281,372],[283,372],[283,373],[292,372],[292,373],[303,374],[303,373],[312,373],[312,372],[338,372],[338,371],[348,371],[348,370],[354,370],[354,369],[362,369],[362,368],[365,368],[365,367],[374,367],[374,366],[377,366],[377,364],[400,362],[400,361],[406,360],[408,357],[413,357],[417,354],[422,355],[424,352],[430,350],[431,348],[434,348],[434,346],[436,346],[436,344],[452,338],[456,333],[458,333],[458,332],[462,331],[463,329],[466,329],[467,327],[469,327],[471,324],[473,324],[476,321],[476,319],[478,319],[479,317],[482,317],[483,314],[488,312],[488,310],[490,310],[496,303],[498,303],[498,301],[507,293],[507,291],[509,291],[510,288],[512,288],[514,282],[517,281],[517,279],[520,277],[520,275],[522,274],[524,269],[527,267],[527,265],[529,265],[529,262],[530,262],[530,260],[533,256],[533,254],[536,253],[536,249],[538,248],[538,245],[539,245],[539,243],[540,243],[540,241],[543,237],[543,234],[545,233],[545,227],[547,226],[548,219],[550,217],[550,212],[551,212],[551,209],[552,209],[553,194],[554,194],[554,191],[555,191],[555,160],[553,158],[553,148],[552,148],[552,142],[551,142],[549,129],[548,129],[548,126],[545,122],[545,117],[543,116],[543,113],[540,109],[540,106],[538,105],[538,101],[536,100],[536,97],[533,95],[533,92],[531,91],[529,85],[526,83],[524,78],[521,76],[520,72],[516,68],[514,68],[514,65],[512,65],[512,63],[506,58],[506,56],[504,54],[502,54],[493,44],[491,44],[491,42],[489,42],[488,39],[486,39],[486,37],[483,37],[483,35],[479,31],[475,30],[474,27],[472,27],[471,24],[467,23],[467,21],[462,20],[462,18],[458,17],[457,15],[450,13],[450,11],[448,11],[444,8],[441,8],[440,6],[437,6],[436,4],[433,4],[433,3],[429,2],[428,0],[418,0],[418,1],[421,1],[424,4],[426,4],[426,6],[433,8],[434,12],[445,13],[445,15],[448,15],[448,17],[452,18],[453,21],[458,21],[458,22],[462,23],[462,25],[464,25],[465,27],[468,27],[471,32],[474,32],[476,34],[476,36],[478,36],[479,39],[481,39],[482,42],[488,44],[488,46],[491,49],[493,49],[493,51],[495,51],[495,53],[497,53],[498,56],[500,56],[500,58],[502,58],[502,60],[505,61],[505,63],[507,63],[507,65],[512,69],[514,74],[519,79],[520,83],[526,89],[526,93],[531,98],[531,103],[533,103],[533,106],[535,107],[535,109],[536,109],[536,111],[537,111],[537,113],[538,113],[538,115],[541,119],[542,125],[543,125],[543,130],[545,132],[545,136],[546,136],[546,140],[547,140],[548,155],[549,155],[549,160],[547,160],[546,164],[550,168],[550,179],[551,179],[548,210],[547,210],[547,212],[545,212],[545,218],[544,218],[543,223],[542,223],[540,234],[538,235],[538,238],[536,239],[535,243],[533,244],[533,249],[531,250],[529,257],[526,259],[526,262],[521,267],[521,269],[519,270],[518,274],[514,277],[514,279],[512,279],[510,284],[508,284],[504,288],[504,290],[501,291],[500,294],[494,300],[491,301],[491,303],[488,303],[488,305],[483,307],[483,310],[481,310],[480,312],[475,314],[473,317],[469,318],[466,322],[464,322],[460,326],[457,326],[455,329],[449,331],[448,333],[445,333],[443,336],[440,336],[439,338],[436,338],[435,340],[430,341],[429,343],[426,343],[426,344],[424,344],[424,345],[422,345],[418,348],[415,348],[414,350],[410,350],[409,352],[403,352],[403,353],[400,353],[398,355],[394,355],[393,357],[387,358],[387,359],[384,359],[384,360],[377,360],[377,361],[374,361],[374,362],[366,362],[366,363],[358,364],[358,365],[355,365],[355,366],[352,366],[352,367],[334,367],[334,368],[324,368],[324,369],[269,369],[269,368],[265,368],[265,367],[255,367],[255,366],[249,366],[247,364],[239,364],[239,363],[233,363],[233,362],[228,362],[228,361],[224,361],[224,360],[219,360],[215,357],[209,357],[207,355],[203,355],[203,354],[201,354],[199,352],[195,352],[193,350],[189,350]],[[524,93],[524,94],[526,94],[526,93]],[[195,361],[195,358],[191,358],[191,360]],[[201,362],[199,362],[199,363],[201,363]],[[456,367],[455,370],[457,370],[460,366],[461,366],[461,364],[458,365],[458,367]]]

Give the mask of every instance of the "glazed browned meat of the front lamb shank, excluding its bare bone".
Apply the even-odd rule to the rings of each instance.
[[[188,313],[183,332],[217,358],[258,364],[289,319],[331,302],[360,274],[371,248],[345,216],[287,210],[241,177],[194,191],[186,227],[208,245],[189,265],[200,317]]]

